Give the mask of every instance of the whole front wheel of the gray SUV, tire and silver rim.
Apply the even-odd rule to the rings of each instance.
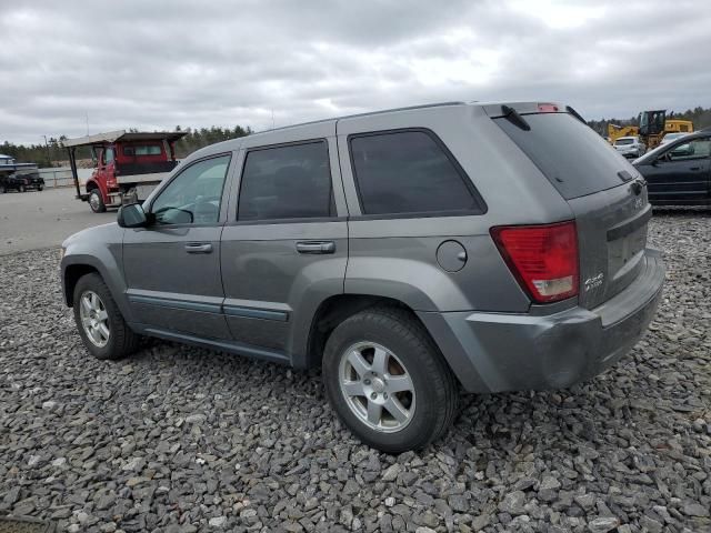
[[[77,282],[73,309],[79,334],[94,358],[121,359],[137,350],[139,336],[126,324],[99,274],[86,274]]]

